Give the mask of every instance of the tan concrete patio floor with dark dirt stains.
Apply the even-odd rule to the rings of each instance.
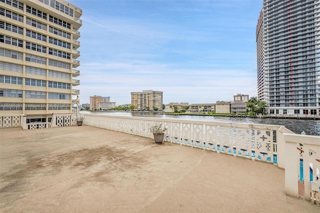
[[[275,165],[91,126],[0,129],[1,212],[320,212]]]

